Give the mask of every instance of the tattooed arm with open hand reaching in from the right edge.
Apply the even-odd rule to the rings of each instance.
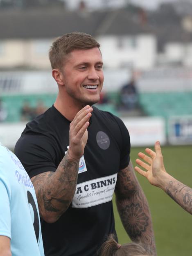
[[[169,197],[192,214],[192,189],[177,181],[166,172],[160,143],[155,143],[155,152],[151,149],[145,149],[145,151],[150,157],[140,152],[138,156],[145,162],[140,159],[136,159],[136,162],[146,171],[143,171],[139,167],[135,167],[135,170],[142,176],[145,176],[152,185],[163,189]]]

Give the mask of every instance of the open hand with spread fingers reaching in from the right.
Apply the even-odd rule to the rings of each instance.
[[[155,152],[151,149],[145,149],[146,153],[138,153],[138,156],[142,159],[136,159],[136,163],[143,167],[145,171],[143,171],[140,167],[135,167],[135,170],[146,177],[148,181],[157,187],[160,186],[162,175],[166,173],[164,164],[163,164],[163,155],[160,149],[160,142],[155,143]]]

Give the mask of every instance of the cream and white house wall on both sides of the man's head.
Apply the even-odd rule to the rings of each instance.
[[[154,65],[156,39],[151,35],[104,36],[97,40],[101,44],[106,67],[149,69]],[[0,41],[0,67],[30,66],[49,69],[48,51],[52,41],[53,39]]]

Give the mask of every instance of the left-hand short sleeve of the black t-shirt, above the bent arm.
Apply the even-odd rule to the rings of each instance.
[[[21,161],[30,178],[45,171],[55,171],[56,153],[53,142],[46,136],[21,136],[14,153]]]

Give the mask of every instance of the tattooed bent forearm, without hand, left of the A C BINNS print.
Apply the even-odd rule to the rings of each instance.
[[[33,177],[39,211],[47,222],[55,222],[70,206],[77,185],[79,161],[69,160],[68,153],[55,172]]]

